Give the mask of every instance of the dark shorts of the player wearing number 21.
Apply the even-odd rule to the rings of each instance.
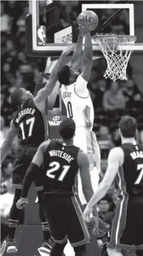
[[[43,207],[50,234],[56,243],[65,243],[69,239],[71,245],[76,247],[90,242],[82,209],[75,197],[45,193]]]

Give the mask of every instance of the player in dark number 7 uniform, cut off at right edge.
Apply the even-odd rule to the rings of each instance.
[[[84,211],[84,218],[89,221],[92,207],[109,190],[116,177],[119,200],[116,216],[112,223],[109,256],[123,256],[121,250],[136,251],[143,255],[143,146],[135,140],[137,121],[124,116],[119,122],[122,145],[109,153],[108,168],[98,190]]]

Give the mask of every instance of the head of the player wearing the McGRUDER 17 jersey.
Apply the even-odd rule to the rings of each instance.
[[[29,98],[33,98],[33,94],[21,87],[11,93],[11,102],[17,107],[20,107],[20,105]]]

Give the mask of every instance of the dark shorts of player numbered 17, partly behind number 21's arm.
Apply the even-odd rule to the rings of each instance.
[[[18,153],[19,156],[15,162],[15,167],[12,173],[12,184],[13,188],[22,188],[22,183],[24,181],[24,176],[26,171],[33,160],[34,154],[36,153],[38,147],[32,146],[22,146],[19,147]],[[36,190],[43,190],[43,181],[35,181]]]

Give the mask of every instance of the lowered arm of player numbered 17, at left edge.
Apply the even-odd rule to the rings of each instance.
[[[13,123],[13,120],[11,120],[10,123],[10,132],[8,133],[6,140],[4,140],[3,146],[1,147],[1,163],[3,163],[4,158],[6,157],[6,154],[8,154],[8,150],[12,146],[12,142],[15,139],[17,135],[17,130],[15,128],[15,124]]]

